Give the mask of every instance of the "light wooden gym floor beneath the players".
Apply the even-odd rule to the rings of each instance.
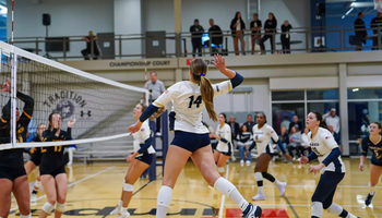
[[[377,196],[373,199],[374,207],[365,207],[363,201],[368,193],[369,169],[358,170],[359,159],[344,159],[346,177],[339,184],[334,202],[343,205],[348,211],[367,218],[381,217],[382,190],[379,185]],[[368,161],[369,162],[369,161]],[[112,217],[108,214],[114,209],[120,197],[122,181],[128,164],[110,162],[84,166],[74,165],[67,168],[69,177],[69,190],[67,197],[67,211],[63,217]],[[253,166],[240,167],[238,162],[228,165],[228,179],[237,185],[243,196],[250,201],[256,193],[256,183],[253,175]],[[297,164],[274,162],[270,166],[270,172],[278,180],[286,181],[288,187],[285,196],[278,196],[278,190],[268,181],[264,181],[266,201],[258,202],[263,208],[263,217],[310,217],[310,197],[314,192],[319,175],[308,174],[309,166]],[[157,168],[157,173],[162,168]],[[36,173],[29,175],[33,182]],[[147,179],[139,180],[134,185],[134,196],[129,207],[131,217],[155,217],[156,195],[162,184],[162,175],[156,181]],[[44,191],[38,194],[38,202],[32,203],[33,216],[37,217],[39,209],[46,203]],[[252,202],[253,203],[253,202]],[[19,217],[13,202],[11,218]],[[219,208],[223,213],[219,214]],[[223,197],[220,193],[208,187],[190,161],[178,179],[174,191],[172,203],[168,217],[240,217],[240,209],[235,202]],[[52,217],[52,215],[50,216]],[[324,211],[323,217],[334,218]]]

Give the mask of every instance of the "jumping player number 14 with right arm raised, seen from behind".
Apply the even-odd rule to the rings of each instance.
[[[262,209],[249,204],[232,183],[218,174],[215,167],[208,130],[202,123],[202,111],[206,107],[210,118],[216,122],[214,97],[240,85],[243,77],[226,69],[225,59],[219,55],[215,56],[213,63],[230,81],[211,85],[210,80],[205,77],[207,64],[202,59],[194,59],[190,64],[190,81],[182,81],[169,87],[143,111],[140,120],[128,129],[129,132],[138,132],[151,114],[172,101],[176,113],[175,138],[167,152],[163,186],[157,197],[156,218],[166,217],[171,203],[172,189],[189,157],[192,158],[207,183],[235,201],[246,218],[259,218],[262,214]]]

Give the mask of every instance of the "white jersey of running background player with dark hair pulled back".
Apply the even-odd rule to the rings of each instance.
[[[268,153],[268,154],[274,153],[271,137],[275,142],[277,142],[278,135],[276,134],[276,132],[273,130],[271,125],[265,123],[262,128],[259,129],[259,125],[255,124],[252,128],[252,132],[253,132],[253,141],[256,143],[259,155],[263,153]]]

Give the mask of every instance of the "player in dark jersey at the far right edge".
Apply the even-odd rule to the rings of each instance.
[[[370,189],[368,196],[366,197],[365,205],[369,206],[372,198],[375,196],[375,185],[382,174],[382,137],[381,137],[381,123],[372,122],[369,129],[369,136],[362,138],[362,153],[360,157],[359,170],[363,171],[363,165],[368,150],[372,152],[371,156],[371,169],[370,169]]]

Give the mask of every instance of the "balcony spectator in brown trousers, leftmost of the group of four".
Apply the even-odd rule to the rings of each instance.
[[[230,22],[230,29],[232,31],[234,37],[234,48],[235,55],[239,56],[239,39],[241,41],[242,55],[246,55],[246,41],[244,41],[244,32],[246,32],[246,23],[241,19],[241,13],[236,12],[235,17]]]

